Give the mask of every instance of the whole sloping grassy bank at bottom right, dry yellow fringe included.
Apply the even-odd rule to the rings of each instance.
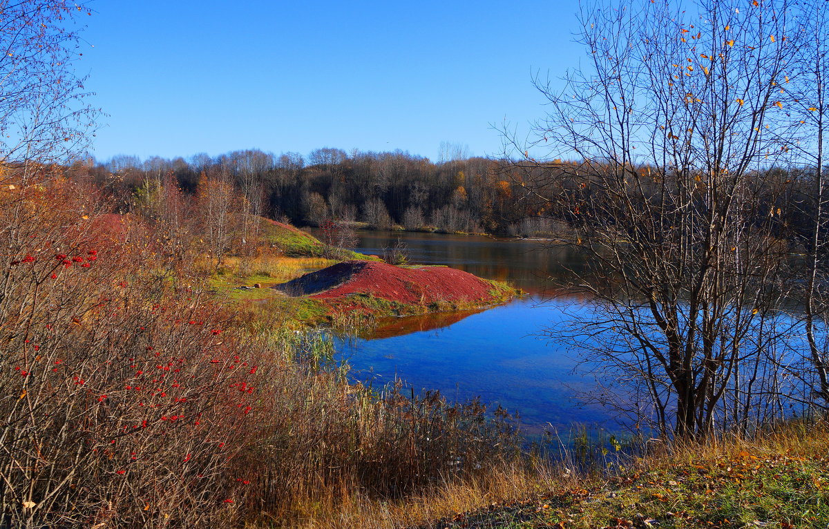
[[[737,529],[829,523],[829,436],[822,420],[796,420],[753,439],[651,454],[606,454],[577,470],[560,463],[503,465],[482,479],[436,486],[405,500],[351,498],[341,512],[295,527],[322,529]]]

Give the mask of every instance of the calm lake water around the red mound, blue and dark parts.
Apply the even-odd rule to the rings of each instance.
[[[517,411],[528,430],[574,422],[611,430],[613,415],[579,403],[589,376],[574,374],[576,351],[541,336],[562,318],[579,318],[577,300],[550,299],[548,278],[579,269],[574,255],[527,240],[475,235],[360,232],[356,249],[382,255],[398,237],[413,264],[449,265],[488,279],[509,281],[531,295],[473,313],[393,318],[370,336],[338,342],[363,380],[405,380],[415,391],[439,390],[448,400],[481,396]]]

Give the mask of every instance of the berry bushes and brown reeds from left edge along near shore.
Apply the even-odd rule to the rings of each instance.
[[[290,519],[479,472],[514,443],[477,403],[351,386],[321,338],[249,332],[196,255],[166,252],[167,224],[39,173],[0,183],[0,526]]]

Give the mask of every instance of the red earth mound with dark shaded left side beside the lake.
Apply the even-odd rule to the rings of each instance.
[[[346,261],[274,287],[291,295],[342,298],[371,294],[400,303],[487,302],[492,284],[473,274],[437,266],[400,268],[373,261]]]

